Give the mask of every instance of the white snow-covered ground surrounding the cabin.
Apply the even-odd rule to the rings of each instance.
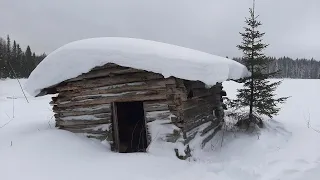
[[[232,97],[238,84],[224,86]],[[278,93],[292,98],[259,136],[225,132],[221,145],[220,133],[194,152],[197,162],[186,162],[174,155],[117,154],[57,130],[50,97],[29,97],[28,104],[16,80],[0,81],[0,179],[318,180],[319,92],[320,80],[285,80]]]

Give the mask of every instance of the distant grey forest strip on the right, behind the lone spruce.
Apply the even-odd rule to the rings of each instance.
[[[242,58],[234,58],[242,62]],[[320,79],[320,61],[311,59],[292,59],[290,57],[267,57],[270,64],[267,72],[277,72],[274,78],[293,78],[293,79]]]

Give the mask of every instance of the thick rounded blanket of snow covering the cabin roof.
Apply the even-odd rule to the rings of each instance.
[[[32,71],[25,89],[36,96],[44,88],[107,63],[199,80],[209,86],[249,75],[240,63],[201,51],[150,40],[104,37],[71,42],[50,53]]]

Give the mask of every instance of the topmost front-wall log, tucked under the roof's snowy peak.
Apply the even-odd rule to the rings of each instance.
[[[93,79],[98,77],[106,77],[106,76],[114,76],[119,74],[128,74],[128,73],[138,73],[143,72],[143,70],[127,68],[127,67],[110,67],[106,69],[98,69],[94,71],[89,71],[88,73],[81,74],[75,78],[69,79],[66,82],[73,82],[73,81],[81,81],[85,79]]]

